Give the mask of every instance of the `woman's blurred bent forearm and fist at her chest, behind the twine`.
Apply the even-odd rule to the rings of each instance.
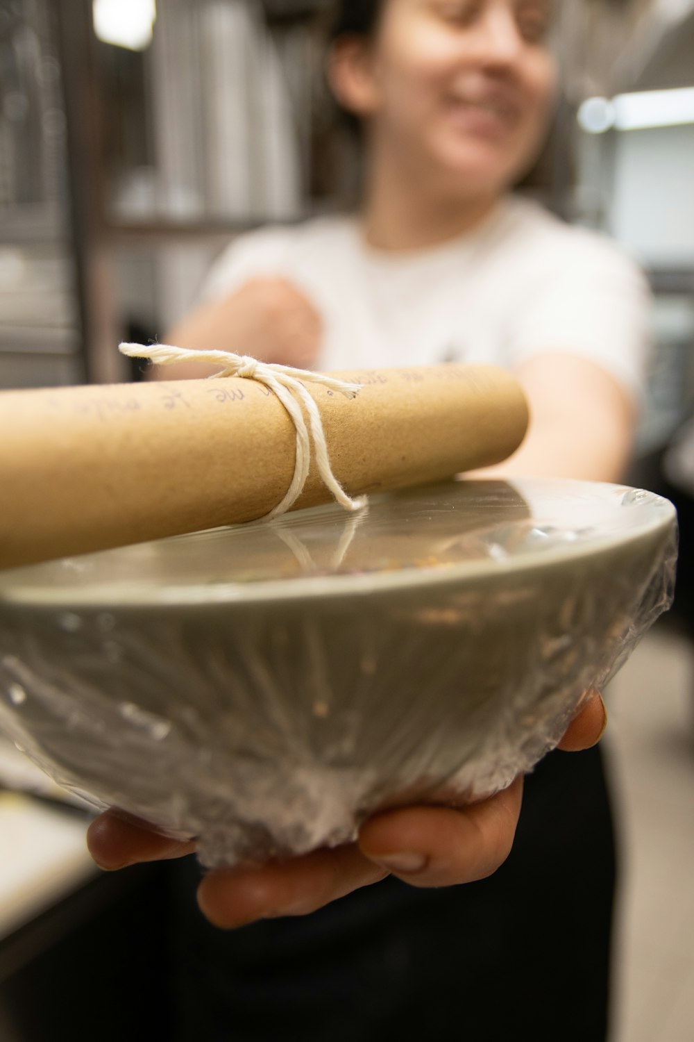
[[[235,293],[202,304],[166,334],[166,342],[188,350],[233,351],[260,362],[308,369],[317,359],[320,317],[287,279],[252,278]],[[154,371],[158,379],[197,379],[219,369],[188,362]]]

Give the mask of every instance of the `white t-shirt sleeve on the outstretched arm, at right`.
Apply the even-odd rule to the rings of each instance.
[[[582,235],[582,233],[579,233]],[[547,266],[508,341],[512,368],[535,354],[583,355],[637,400],[650,353],[650,292],[639,267],[609,241],[586,233]]]

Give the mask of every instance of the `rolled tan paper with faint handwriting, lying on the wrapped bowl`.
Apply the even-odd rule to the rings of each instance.
[[[528,406],[491,366],[335,374],[350,401],[308,390],[351,495],[499,463]],[[284,496],[295,431],[266,388],[236,377],[0,394],[0,567],[263,517]],[[297,503],[330,493],[311,469]]]

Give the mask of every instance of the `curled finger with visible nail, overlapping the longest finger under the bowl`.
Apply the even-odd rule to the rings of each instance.
[[[508,858],[518,823],[522,778],[491,799],[460,810],[407,808],[362,827],[359,847],[415,887],[447,887],[491,875]]]

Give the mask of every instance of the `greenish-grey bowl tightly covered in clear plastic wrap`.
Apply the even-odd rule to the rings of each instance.
[[[672,598],[666,500],[462,481],[0,573],[0,726],[212,866],[529,771]]]

